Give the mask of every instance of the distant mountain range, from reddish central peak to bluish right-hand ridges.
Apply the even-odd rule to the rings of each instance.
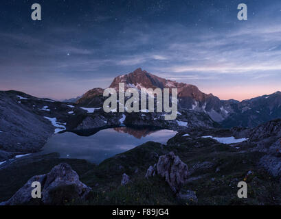
[[[113,79],[109,88],[119,89],[119,83],[127,88],[177,88],[178,107],[183,110],[202,112],[223,127],[255,127],[269,120],[281,118],[281,92],[259,96],[245,101],[220,100],[213,94],[205,94],[194,85],[179,83],[153,75],[137,68],[132,73]],[[89,90],[77,101],[78,104],[101,107],[102,88]]]

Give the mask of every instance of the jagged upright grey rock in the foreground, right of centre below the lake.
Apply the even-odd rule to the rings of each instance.
[[[156,174],[163,177],[172,191],[177,194],[181,190],[181,185],[188,179],[188,166],[171,151],[167,155],[160,156],[158,163],[148,168],[146,178]]]

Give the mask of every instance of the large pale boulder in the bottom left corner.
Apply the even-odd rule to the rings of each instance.
[[[41,198],[32,198],[32,183],[41,183]],[[79,180],[78,174],[68,164],[59,164],[44,175],[32,177],[12,198],[1,205],[63,205],[69,201],[85,200],[91,188]]]

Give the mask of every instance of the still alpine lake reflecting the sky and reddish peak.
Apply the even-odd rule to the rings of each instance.
[[[57,152],[63,158],[87,159],[89,162],[99,164],[106,158],[148,141],[166,144],[176,133],[177,131],[167,129],[150,131],[128,127],[104,129],[89,137],[65,132],[49,138],[41,154]]]

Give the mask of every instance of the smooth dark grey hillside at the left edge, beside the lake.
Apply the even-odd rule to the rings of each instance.
[[[0,162],[10,158],[1,151],[38,151],[54,133],[48,120],[23,104],[31,98],[21,92],[0,92]]]

